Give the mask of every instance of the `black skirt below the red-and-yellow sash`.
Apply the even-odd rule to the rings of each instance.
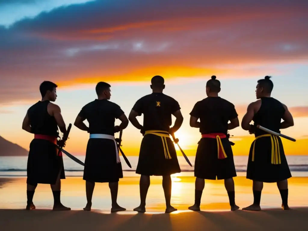
[[[221,139],[227,158],[218,159],[217,140],[201,138],[195,159],[195,176],[207,180],[222,180],[237,176],[231,144],[227,138]]]

